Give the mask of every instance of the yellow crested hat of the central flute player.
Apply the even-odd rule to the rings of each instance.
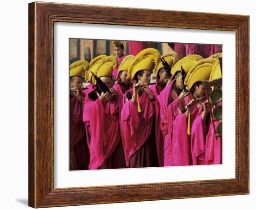
[[[141,70],[151,71],[153,61],[155,64],[159,63],[160,58],[160,53],[154,48],[147,48],[142,50],[132,60],[127,72],[128,77],[134,79],[135,74]]]

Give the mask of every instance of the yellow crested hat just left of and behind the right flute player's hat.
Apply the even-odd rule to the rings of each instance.
[[[202,56],[200,55],[187,55],[175,63],[175,65],[172,67],[171,75],[174,76],[177,72],[181,72],[182,68],[186,73],[188,73],[192,66],[194,66],[199,60],[202,60]]]

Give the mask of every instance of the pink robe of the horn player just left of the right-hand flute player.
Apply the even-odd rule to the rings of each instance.
[[[174,89],[175,81],[171,82],[158,96],[160,103],[161,130],[164,136],[164,166],[174,166],[173,158],[173,124],[178,114],[179,101]],[[169,104],[169,99],[171,103]]]

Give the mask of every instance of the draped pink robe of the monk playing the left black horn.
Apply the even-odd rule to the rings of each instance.
[[[91,92],[94,91],[96,91],[96,87]],[[121,136],[118,100],[111,98],[103,104],[99,97],[95,101],[91,100],[89,98],[91,92],[86,96],[83,115],[83,121],[88,125],[91,135],[89,169],[125,167],[124,163],[117,163],[118,165],[115,166],[108,163],[109,161],[118,162],[117,158],[112,159],[110,156],[117,152],[116,149],[119,150],[119,153],[122,150],[119,145]],[[120,154],[120,159],[121,156],[123,154]]]

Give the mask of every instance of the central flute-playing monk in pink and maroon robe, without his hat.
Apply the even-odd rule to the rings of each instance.
[[[139,71],[141,82],[124,95],[121,112],[124,143],[128,151],[127,166],[154,167],[158,166],[155,142],[155,104],[157,100],[148,87],[150,71]],[[135,76],[136,78],[136,76]],[[136,88],[143,85],[143,88]],[[138,94],[141,112],[138,112]]]

